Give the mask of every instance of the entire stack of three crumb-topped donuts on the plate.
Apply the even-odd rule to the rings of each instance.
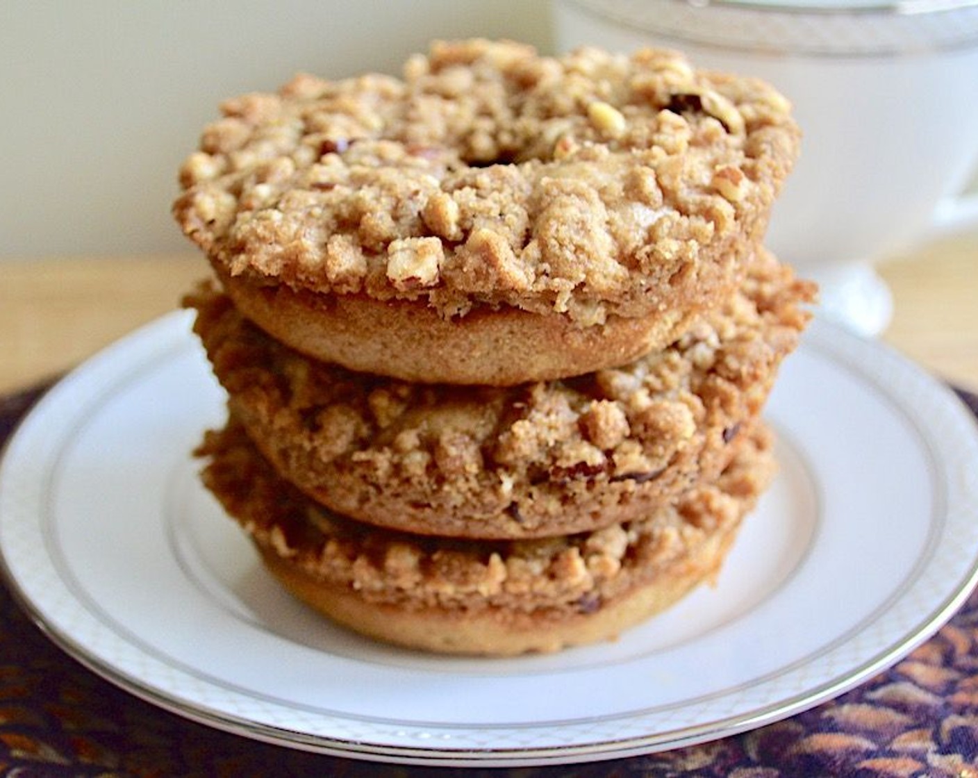
[[[610,638],[710,578],[771,479],[811,284],[766,252],[786,101],[675,53],[439,43],[222,106],[174,213],[228,422],[205,485],[392,643]]]

